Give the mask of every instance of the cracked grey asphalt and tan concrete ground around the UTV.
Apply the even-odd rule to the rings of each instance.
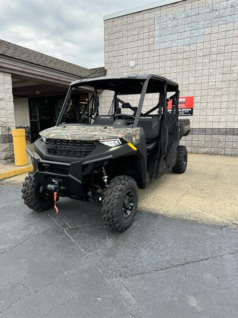
[[[37,213],[2,182],[0,318],[237,318],[237,159],[189,159],[139,192],[122,234],[98,203]]]

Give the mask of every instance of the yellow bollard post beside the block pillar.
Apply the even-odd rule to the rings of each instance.
[[[25,129],[12,129],[15,165],[26,165]]]

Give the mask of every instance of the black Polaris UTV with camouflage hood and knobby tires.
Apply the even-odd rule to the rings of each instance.
[[[70,96],[85,86],[93,94],[81,123],[72,122]],[[102,91],[109,103],[112,96],[105,115],[98,97]],[[45,211],[57,209],[60,196],[93,199],[102,203],[104,223],[124,231],[135,216],[137,187],[145,189],[171,168],[186,169],[187,151],[179,140],[189,134],[190,121],[178,118],[178,105],[178,84],[156,75],[72,82],[56,126],[40,132],[34,144],[40,159],[28,150],[34,170],[23,183],[24,203]]]

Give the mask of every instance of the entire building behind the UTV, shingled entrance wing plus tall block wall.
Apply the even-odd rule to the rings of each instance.
[[[0,164],[14,161],[11,129],[29,126],[34,141],[53,126],[71,81],[150,73],[193,97],[188,152],[238,156],[238,0],[161,0],[104,17],[105,68],[86,69],[0,40]],[[89,87],[73,96],[78,119]],[[149,96],[145,107],[155,105]],[[127,100],[135,106],[138,97]],[[112,94],[103,91],[100,112]],[[186,118],[186,117],[183,117]],[[65,121],[67,122],[67,118]]]

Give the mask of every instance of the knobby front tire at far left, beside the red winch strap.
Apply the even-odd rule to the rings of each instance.
[[[28,208],[43,212],[54,206],[53,192],[43,188],[36,178],[33,176],[33,171],[25,177],[22,185],[22,199]],[[59,198],[58,198],[59,199]]]

